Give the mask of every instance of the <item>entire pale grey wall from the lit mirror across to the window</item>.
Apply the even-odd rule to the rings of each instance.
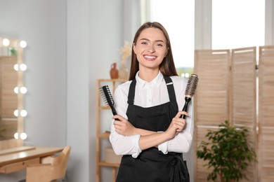
[[[0,35],[28,43],[25,144],[72,146],[68,181],[96,181],[96,79],[109,78],[119,59],[122,3],[0,0]],[[1,182],[24,178],[0,174]]]

